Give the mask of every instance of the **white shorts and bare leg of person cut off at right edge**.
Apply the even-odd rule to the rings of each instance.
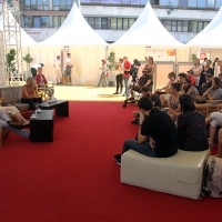
[[[221,112],[212,112],[205,119],[205,124],[210,124],[210,139],[209,147],[214,148],[214,138],[219,131],[219,128],[222,127],[222,113]]]

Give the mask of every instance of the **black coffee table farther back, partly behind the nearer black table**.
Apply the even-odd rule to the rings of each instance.
[[[56,109],[56,115],[69,117],[69,101],[57,100],[56,102],[42,102],[39,104],[41,110]]]

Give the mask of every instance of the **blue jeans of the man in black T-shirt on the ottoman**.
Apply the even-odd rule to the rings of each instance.
[[[149,142],[139,143],[137,140],[125,140],[122,153],[127,152],[128,150],[134,150],[143,155],[157,158],[155,150],[150,147]]]

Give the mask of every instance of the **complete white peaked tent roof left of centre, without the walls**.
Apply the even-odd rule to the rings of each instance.
[[[75,2],[60,29],[39,46],[105,47],[108,43],[88,24]]]

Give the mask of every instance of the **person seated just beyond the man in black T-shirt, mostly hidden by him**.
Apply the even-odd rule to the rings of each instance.
[[[151,99],[152,103],[154,107],[161,108],[161,101],[158,94],[152,94],[151,89],[147,85],[141,88],[141,93],[142,97],[148,97]],[[131,123],[139,123],[139,119],[140,119],[140,111],[133,111],[132,115],[135,118],[133,121],[131,121]]]

